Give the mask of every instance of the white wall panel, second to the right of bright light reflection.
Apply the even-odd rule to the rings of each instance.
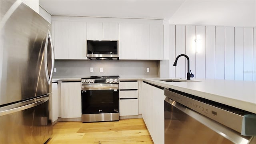
[[[225,27],[216,26],[215,36],[215,79],[225,76]]]

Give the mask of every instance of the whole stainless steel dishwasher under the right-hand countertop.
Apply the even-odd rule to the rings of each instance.
[[[165,144],[256,144],[256,114],[173,89],[164,95]],[[253,117],[246,127],[245,116]]]

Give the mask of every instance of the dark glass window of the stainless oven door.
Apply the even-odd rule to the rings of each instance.
[[[87,90],[82,92],[82,114],[119,112],[118,90]]]

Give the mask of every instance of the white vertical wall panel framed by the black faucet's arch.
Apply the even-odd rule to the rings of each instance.
[[[185,54],[185,44],[186,44],[186,26],[178,25],[176,26],[176,33],[175,33],[175,58],[180,54]],[[176,78],[186,78],[186,71],[185,71],[185,57],[182,56],[178,59],[177,66],[175,68],[175,77]]]

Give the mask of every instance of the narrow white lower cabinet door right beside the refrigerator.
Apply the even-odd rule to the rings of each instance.
[[[50,97],[50,109],[52,116],[52,122],[58,120],[59,115],[59,92],[58,92],[58,83],[52,84],[52,95]]]

